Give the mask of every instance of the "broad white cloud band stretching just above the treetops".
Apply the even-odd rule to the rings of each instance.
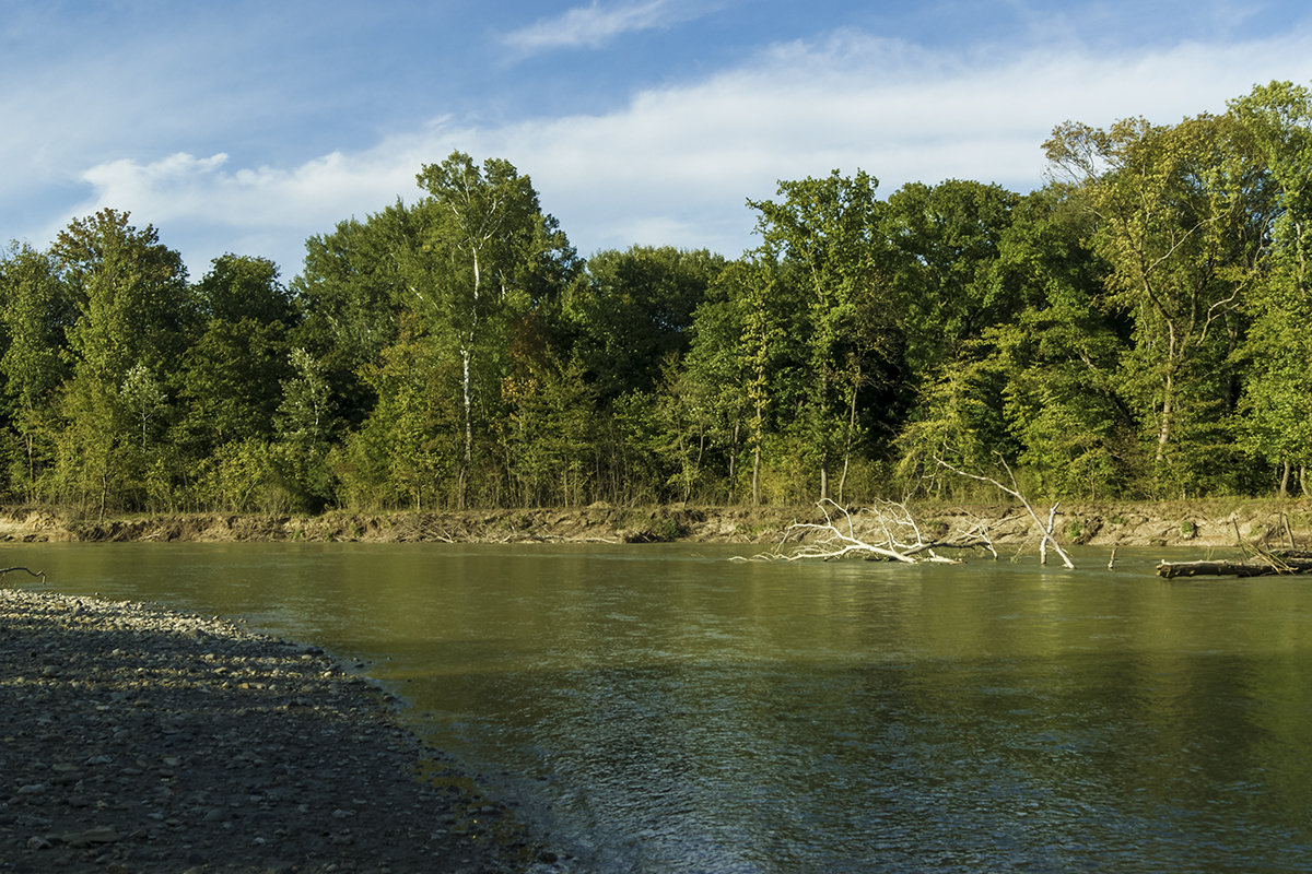
[[[698,84],[648,90],[622,111],[502,127],[437,122],[371,149],[299,166],[231,168],[223,155],[114,161],[87,172],[101,204],[129,208],[178,242],[193,271],[243,241],[299,269],[303,242],[341,219],[420,195],[415,174],[453,149],[509,159],[533,177],[584,254],[638,244],[753,245],[747,198],[781,178],[865,169],[891,193],[908,181],[1042,183],[1040,144],[1068,118],[1105,126],[1143,114],[1173,122],[1221,111],[1271,79],[1312,80],[1312,39],[1183,45],[1109,56],[1080,47],[939,58],[907,45],[838,34],[778,46]]]

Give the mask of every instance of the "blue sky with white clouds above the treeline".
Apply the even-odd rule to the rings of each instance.
[[[0,245],[131,212],[193,278],[509,160],[583,256],[753,248],[748,199],[866,170],[1044,183],[1068,119],[1312,84],[1305,0],[0,0]]]

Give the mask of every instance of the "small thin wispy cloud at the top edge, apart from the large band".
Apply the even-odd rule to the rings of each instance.
[[[551,48],[597,48],[615,37],[640,30],[669,28],[698,18],[710,4],[697,7],[687,0],[646,0],[575,7],[563,16],[543,18],[527,28],[505,34],[502,42],[525,54]]]

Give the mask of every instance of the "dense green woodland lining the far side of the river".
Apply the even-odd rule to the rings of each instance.
[[[1067,122],[1048,182],[748,202],[729,261],[586,261],[504,160],[192,280],[104,210],[0,259],[0,499],[298,512],[1298,494],[1312,92]]]

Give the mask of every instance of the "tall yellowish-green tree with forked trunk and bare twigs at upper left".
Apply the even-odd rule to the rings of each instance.
[[[1132,314],[1127,377],[1152,422],[1157,487],[1207,489],[1227,466],[1228,360],[1270,228],[1253,138],[1228,117],[1132,118],[1107,131],[1068,122],[1046,149],[1054,173],[1088,189],[1111,300]]]

